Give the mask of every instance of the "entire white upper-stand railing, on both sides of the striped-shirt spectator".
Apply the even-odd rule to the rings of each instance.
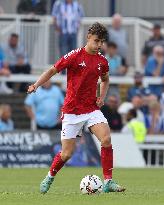
[[[85,45],[85,35],[89,25],[99,21],[107,27],[111,26],[111,18],[83,18],[78,33],[78,47]],[[7,42],[12,32],[20,34],[21,42],[25,45],[33,67],[44,69],[58,57],[58,41],[50,16],[26,16],[6,14],[0,16],[0,43]],[[123,19],[123,27],[128,33],[128,60],[136,69],[141,69],[141,50],[145,40],[151,34],[152,24],[139,18]],[[53,29],[52,29],[53,28]],[[51,58],[50,58],[51,57]]]

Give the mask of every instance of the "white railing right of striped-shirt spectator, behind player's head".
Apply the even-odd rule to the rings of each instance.
[[[108,17],[98,18],[84,18],[82,20],[81,28],[78,35],[78,44],[82,46],[84,44],[84,36],[87,32],[87,28],[94,22],[103,23],[106,26],[111,26],[112,19]],[[145,41],[151,35],[151,28],[153,24],[139,19],[139,18],[123,18],[123,27],[128,33],[128,60],[131,66],[137,70],[141,69],[141,51],[143,49]]]

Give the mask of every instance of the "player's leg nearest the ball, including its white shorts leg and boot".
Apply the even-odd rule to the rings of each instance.
[[[110,128],[101,111],[97,110],[91,113],[91,117],[87,122],[87,126],[101,142],[101,164],[103,168],[105,184],[104,191],[124,191],[124,188],[120,187],[112,180],[113,149],[111,144]]]

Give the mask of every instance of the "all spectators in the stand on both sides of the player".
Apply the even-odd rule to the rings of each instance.
[[[18,13],[44,14],[45,1],[20,1]],[[37,8],[42,13],[37,13]],[[35,8],[36,10],[32,10]],[[27,9],[25,11],[25,8]],[[76,37],[84,11],[78,1],[55,1],[52,7],[54,25],[59,34],[60,56],[76,48]],[[109,28],[109,39],[104,43],[102,53],[109,63],[110,76],[128,75],[128,34],[122,26],[122,16],[114,14]],[[31,73],[30,61],[26,49],[21,44],[20,37],[12,33],[8,42],[0,47],[0,75],[9,76],[14,73]],[[164,85],[143,86],[145,76],[164,76],[164,37],[161,26],[155,24],[152,36],[145,42],[141,51],[143,71],[134,72],[134,85],[124,96],[120,96],[119,86],[109,88],[105,105],[101,108],[107,118],[112,132],[132,132],[137,143],[145,139],[146,134],[164,134]],[[110,77],[109,76],[109,77]],[[0,92],[25,92],[26,84],[0,84]],[[5,91],[6,89],[6,91]],[[25,109],[30,120],[36,121],[38,129],[61,128],[60,108],[64,96],[59,87],[47,82],[36,93],[25,99]],[[44,109],[43,109],[44,108]],[[14,128],[11,108],[0,106],[0,131]],[[138,137],[137,137],[138,136]]]

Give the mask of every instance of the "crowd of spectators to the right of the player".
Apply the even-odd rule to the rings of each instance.
[[[103,47],[109,63],[110,76],[128,73],[128,35],[122,27],[122,17],[114,14],[109,28],[109,39]],[[154,24],[152,36],[141,51],[143,70],[134,72],[134,85],[127,90],[121,102],[119,86],[111,85],[102,112],[111,130],[132,132],[137,143],[144,142],[146,134],[164,134],[164,84],[143,86],[143,78],[164,76],[164,37],[161,26]],[[111,101],[111,102],[109,102]],[[112,102],[115,104],[112,105]],[[121,119],[121,121],[120,121]],[[116,123],[116,124],[115,124]]]

